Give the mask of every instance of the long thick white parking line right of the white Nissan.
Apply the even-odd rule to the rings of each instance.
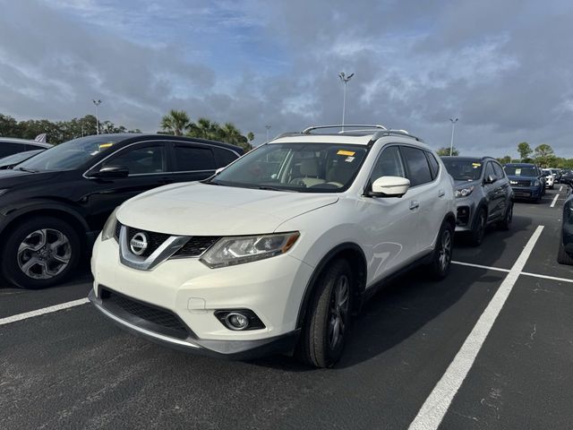
[[[423,403],[418,415],[408,427],[410,430],[434,430],[440,426],[451,401],[466,379],[470,368],[474,365],[475,357],[477,357],[482,348],[485,338],[492,329],[493,323],[495,323],[501,308],[509,297],[509,293],[511,293],[511,289],[526,266],[527,259],[531,255],[542,231],[543,226],[535,228],[535,232],[527,241],[526,247],[517,257],[517,262],[515,262],[506,278],[501,282],[500,288],[492,297],[483,314],[480,315],[474,329],[469,333],[462,348],[459,349],[458,354],[448,366],[446,373],[443,374],[430,396],[428,396],[428,399]]]

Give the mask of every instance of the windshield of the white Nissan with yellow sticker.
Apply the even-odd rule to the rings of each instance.
[[[238,159],[207,183],[302,193],[338,193],[352,184],[365,146],[269,143]]]

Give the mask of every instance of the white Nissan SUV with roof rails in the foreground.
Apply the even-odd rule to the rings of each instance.
[[[345,128],[286,133],[206,181],[124,202],[94,246],[91,302],[171,347],[333,365],[390,275],[448,274],[456,225],[452,180],[420,139]]]

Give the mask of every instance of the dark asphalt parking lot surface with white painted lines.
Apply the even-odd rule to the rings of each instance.
[[[87,269],[57,288],[4,286],[0,428],[571,428],[573,266],[556,262],[559,189],[517,202],[512,229],[481,247],[457,241],[447,280],[418,272],[385,288],[334,369],[133,337],[83,302]]]

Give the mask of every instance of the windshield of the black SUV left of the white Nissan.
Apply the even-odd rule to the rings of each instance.
[[[31,171],[73,170],[80,168],[88,160],[122,139],[124,138],[121,136],[106,134],[80,137],[44,150],[31,159],[23,161],[16,168]]]

